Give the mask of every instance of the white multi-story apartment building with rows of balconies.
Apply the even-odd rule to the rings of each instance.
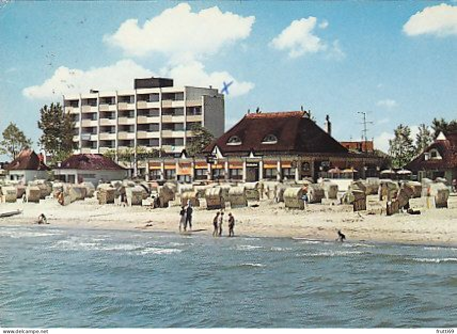
[[[73,118],[74,153],[162,149],[180,154],[193,123],[218,138],[224,132],[224,96],[217,89],[174,87],[165,78],[135,79],[133,90],[64,95]]]

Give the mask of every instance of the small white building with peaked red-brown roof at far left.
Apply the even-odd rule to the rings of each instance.
[[[26,148],[18,154],[5,168],[6,179],[27,184],[33,180],[46,180],[50,168],[43,163],[43,155],[36,154],[30,148]]]

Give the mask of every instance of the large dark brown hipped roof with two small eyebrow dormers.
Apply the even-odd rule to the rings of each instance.
[[[209,153],[217,145],[223,154],[303,154],[347,153],[347,149],[329,136],[304,111],[266,112],[245,115],[234,127],[205,148]],[[268,135],[276,143],[262,143]],[[228,145],[228,139],[237,136],[240,145]]]

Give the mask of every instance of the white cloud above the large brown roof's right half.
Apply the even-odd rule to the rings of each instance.
[[[289,27],[273,38],[270,46],[278,50],[288,50],[290,58],[324,51],[327,49],[326,43],[313,33],[316,23],[314,16],[292,21]]]

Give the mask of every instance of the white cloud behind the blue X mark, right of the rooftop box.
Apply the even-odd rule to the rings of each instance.
[[[254,88],[254,84],[246,81],[238,81],[226,71],[207,73],[202,63],[198,61],[177,65],[171,69],[162,69],[162,75],[175,79],[175,85],[201,86],[222,88],[223,82],[233,83],[228,87],[228,95],[239,96],[248,93]]]

